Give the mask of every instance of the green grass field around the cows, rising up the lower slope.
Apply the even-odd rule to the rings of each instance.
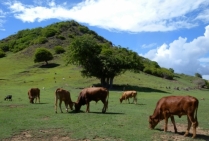
[[[57,88],[69,90],[72,100],[76,101],[82,88],[99,83],[96,78],[83,78],[79,67],[65,66],[60,58],[51,61],[50,68],[34,64],[21,53],[0,59],[0,140],[191,140],[191,134],[183,137],[187,128],[186,116],[175,117],[178,134],[170,124],[169,132],[164,133],[164,121],[154,130],[148,128],[148,117],[157,101],[169,95],[192,95],[199,99],[199,127],[194,140],[209,140],[209,91],[173,89],[194,87],[191,83],[194,77],[186,75],[178,75],[169,81],[144,73],[126,72],[114,79],[106,114],[101,113],[101,101],[90,103],[90,113],[60,113],[58,108],[55,114],[54,92]],[[29,103],[27,92],[31,87],[41,89],[40,104]],[[138,92],[136,105],[119,103],[124,87]],[[9,94],[13,95],[13,100],[4,101]],[[65,111],[64,104],[62,108]],[[82,106],[81,110],[85,109],[86,106]]]

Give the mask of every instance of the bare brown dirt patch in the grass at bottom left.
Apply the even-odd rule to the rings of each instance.
[[[123,141],[121,139],[113,138],[100,138],[96,136],[94,141]],[[2,141],[91,141],[90,139],[73,139],[71,133],[67,133],[62,129],[48,129],[38,131],[23,131],[10,138],[3,139]]]

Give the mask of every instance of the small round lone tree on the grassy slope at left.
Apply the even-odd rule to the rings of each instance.
[[[52,53],[45,49],[45,48],[38,48],[36,49],[35,56],[34,56],[34,62],[46,62],[46,65],[48,65],[48,61],[53,59]]]

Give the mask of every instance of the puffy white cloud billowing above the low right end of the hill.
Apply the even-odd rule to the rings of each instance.
[[[209,58],[204,58],[208,52],[209,25],[205,27],[203,36],[191,42],[179,37],[172,43],[163,44],[143,56],[158,62],[162,67],[173,68],[177,73],[194,75],[198,72],[202,75],[209,75]]]

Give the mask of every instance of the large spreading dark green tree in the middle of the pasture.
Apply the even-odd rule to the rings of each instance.
[[[126,70],[139,71],[141,66],[137,53],[100,43],[91,35],[75,37],[66,55],[67,64],[80,65],[83,76],[96,77],[106,87],[112,87],[115,76]]]

